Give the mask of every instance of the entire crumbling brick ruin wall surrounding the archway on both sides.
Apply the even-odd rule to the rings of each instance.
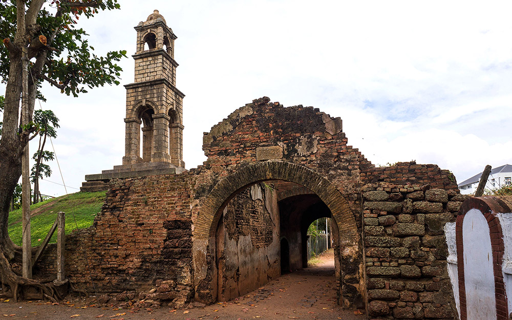
[[[441,284],[444,284],[446,270],[443,265],[445,257],[440,253],[445,245],[440,241],[441,234],[435,233],[439,231],[431,230],[429,219],[439,217],[442,224],[446,222],[444,220],[447,220],[448,214],[455,210],[454,203],[460,202],[457,200],[455,179],[436,165],[401,162],[389,167],[375,167],[347,143],[341,130],[341,120],[331,118],[318,109],[302,106],[283,108],[278,102],[255,100],[233,112],[205,134],[203,150],[208,160],[198,168],[181,175],[112,181],[105,205],[96,217],[94,226],[80,232],[80,237],[78,234],[67,237],[67,275],[90,292],[93,291],[92,279],[98,292],[145,292],[156,286],[160,291],[156,293],[162,293],[162,299],[142,295],[150,303],[163,301],[183,305],[191,302],[194,294],[202,301],[209,298],[209,302],[214,302],[208,294],[211,286],[215,285],[210,276],[215,271],[212,270],[215,269],[215,257],[206,253],[208,270],[199,285],[191,279],[195,276],[191,239],[194,229],[198,228],[198,214],[219,181],[246,165],[259,162],[257,147],[281,146],[283,155],[279,161],[305,166],[337,188],[354,215],[359,234],[364,234],[362,242],[359,241],[360,255],[342,256],[342,253],[336,252],[336,259],[346,267],[344,290],[352,294],[351,302],[361,305],[368,299],[372,314],[377,316],[380,312],[379,316],[382,317],[400,318],[411,315],[411,312],[413,315],[421,312],[429,315],[434,309],[445,310],[446,304],[439,306],[434,298],[425,297],[429,292],[435,297],[439,296],[436,294],[444,288]],[[386,184],[390,187],[381,186]],[[421,189],[423,185],[444,189],[450,201],[425,200],[427,190]],[[369,191],[381,191],[389,197],[378,201],[367,196],[364,198],[363,195]],[[420,193],[423,198],[419,196]],[[414,195],[418,198],[414,198]],[[232,196],[227,195],[224,200]],[[426,209],[421,209],[422,205]],[[363,207],[364,210],[361,210]],[[413,211],[409,212],[411,207]],[[391,223],[393,217],[393,225],[381,224],[381,220],[386,219],[389,219],[387,223]],[[367,222],[367,219],[370,220]],[[343,227],[343,221],[338,223]],[[402,228],[409,227],[416,230],[414,232],[420,232],[421,225],[425,228],[424,234],[405,236],[400,233]],[[366,227],[371,228],[367,231]],[[440,228],[442,230],[442,226]],[[370,235],[371,232],[374,234]],[[433,238],[439,241],[431,241]],[[87,260],[81,254],[81,240],[87,251]],[[366,253],[362,254],[364,247]],[[409,251],[408,255],[406,250]],[[402,252],[407,257],[394,257],[391,252]],[[426,253],[422,255],[421,252]],[[377,254],[383,256],[375,256]],[[51,253],[46,257],[39,267],[41,274],[48,273],[54,267],[48,259]],[[365,263],[367,268],[361,272],[360,266]],[[441,268],[442,272],[432,276],[428,275],[429,271],[421,273],[429,268]],[[405,271],[403,274],[402,269]],[[392,273],[373,274],[376,272],[374,270],[390,270]],[[406,278],[408,270],[414,271],[413,275],[420,278]],[[172,283],[162,284],[163,280]],[[365,281],[368,282],[368,292]],[[411,289],[413,282],[422,283],[423,286],[414,287],[417,289],[415,291]],[[162,286],[164,289],[161,289]],[[421,308],[418,304],[421,304]],[[378,308],[382,310],[376,311]]]

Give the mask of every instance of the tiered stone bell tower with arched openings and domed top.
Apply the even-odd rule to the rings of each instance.
[[[183,97],[176,88],[176,35],[158,10],[137,27],[135,81],[126,88],[123,165],[183,162]],[[142,134],[141,134],[142,132]]]

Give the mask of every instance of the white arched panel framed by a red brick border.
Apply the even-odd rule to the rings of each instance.
[[[496,319],[493,251],[487,220],[477,209],[462,223],[467,320]]]

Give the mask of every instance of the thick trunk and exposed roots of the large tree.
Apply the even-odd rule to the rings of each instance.
[[[20,285],[30,285],[40,288],[45,294],[54,300],[55,292],[48,286],[41,285],[37,281],[29,280],[15,274],[10,261],[14,258],[16,246],[9,238],[8,218],[11,198],[16,183],[22,174],[22,151],[29,141],[31,130],[19,126],[19,101],[22,94],[22,50],[28,45],[28,39],[33,34],[27,33],[27,25],[32,26],[36,22],[37,13],[40,11],[45,0],[34,0],[27,12],[25,12],[25,1],[16,0],[16,35],[14,41],[4,40],[4,45],[9,50],[9,78],[7,80],[4,123],[2,128],[2,139],[0,140],[0,282],[2,287],[8,286],[9,292],[14,300],[18,298]],[[33,33],[34,31],[32,31]],[[35,102],[35,87],[29,88],[29,121],[31,121]],[[32,91],[32,92],[31,92]],[[19,130],[18,130],[19,128]]]

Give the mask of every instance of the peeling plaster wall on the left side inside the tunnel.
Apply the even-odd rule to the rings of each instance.
[[[258,183],[223,210],[217,238],[218,300],[228,301],[281,274],[275,190]]]

